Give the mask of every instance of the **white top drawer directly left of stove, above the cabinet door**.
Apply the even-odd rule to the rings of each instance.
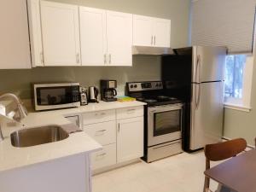
[[[144,108],[143,106],[134,108],[121,108],[116,110],[117,119],[128,119],[133,117],[143,116]]]

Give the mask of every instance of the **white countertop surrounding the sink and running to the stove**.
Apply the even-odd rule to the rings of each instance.
[[[1,122],[3,137],[5,138],[0,142],[0,172],[74,154],[91,153],[102,148],[99,143],[96,143],[84,131],[70,134],[67,139],[55,143],[46,143],[28,148],[15,148],[9,138],[10,133],[13,131],[42,125],[67,125],[70,122],[64,116],[108,109],[137,107],[145,104],[137,101],[90,103],[80,108],[29,113],[26,119],[16,125],[8,125]]]

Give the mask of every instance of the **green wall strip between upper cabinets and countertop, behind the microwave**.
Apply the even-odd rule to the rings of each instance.
[[[128,81],[160,80],[160,56],[133,56],[132,67],[36,67],[24,70],[0,70],[0,94],[14,92],[21,99],[30,99],[32,82],[79,82],[96,85],[100,79],[115,79],[118,95],[125,94]]]

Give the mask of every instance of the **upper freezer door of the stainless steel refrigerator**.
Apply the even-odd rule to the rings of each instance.
[[[210,82],[224,80],[226,48],[193,47],[192,82]]]

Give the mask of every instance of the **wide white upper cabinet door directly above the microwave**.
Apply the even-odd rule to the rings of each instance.
[[[41,1],[44,66],[79,66],[79,7]]]

